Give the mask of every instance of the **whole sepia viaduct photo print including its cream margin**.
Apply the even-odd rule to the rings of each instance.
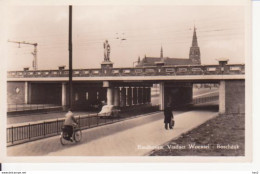
[[[249,162],[250,1],[174,2],[8,5],[5,158]]]

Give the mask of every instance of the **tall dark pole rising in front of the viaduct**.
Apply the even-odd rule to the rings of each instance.
[[[69,6],[69,106],[72,109],[72,5]]]

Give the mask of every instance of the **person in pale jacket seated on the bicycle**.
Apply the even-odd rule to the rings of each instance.
[[[71,112],[71,109],[68,109],[68,112],[65,115],[65,121],[64,121],[64,130],[69,135],[69,140],[72,142],[72,134],[73,134],[73,125],[78,124],[77,120],[74,117],[74,114]]]

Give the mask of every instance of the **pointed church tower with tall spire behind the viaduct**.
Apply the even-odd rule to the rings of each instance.
[[[198,46],[195,26],[194,26],[194,30],[193,30],[193,38],[192,38],[192,45],[190,47],[189,59],[192,61],[193,65],[200,65],[201,64],[201,61],[200,61],[200,48]]]

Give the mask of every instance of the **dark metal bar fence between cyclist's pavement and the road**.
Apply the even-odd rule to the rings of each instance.
[[[157,110],[158,106],[149,106],[144,108],[142,113],[154,112]],[[129,111],[130,110],[128,110],[128,112]],[[127,116],[133,117],[137,114],[140,114],[138,113],[138,109],[135,109],[133,111],[130,115]],[[81,129],[89,129],[101,125],[111,124],[120,120],[125,120],[126,118],[127,117],[122,115],[117,117],[101,117],[98,114],[88,114],[76,117]],[[39,123],[8,127],[6,131],[7,146],[24,143],[36,139],[46,138],[54,135],[59,135],[63,126],[63,122],[64,119],[55,119]]]

